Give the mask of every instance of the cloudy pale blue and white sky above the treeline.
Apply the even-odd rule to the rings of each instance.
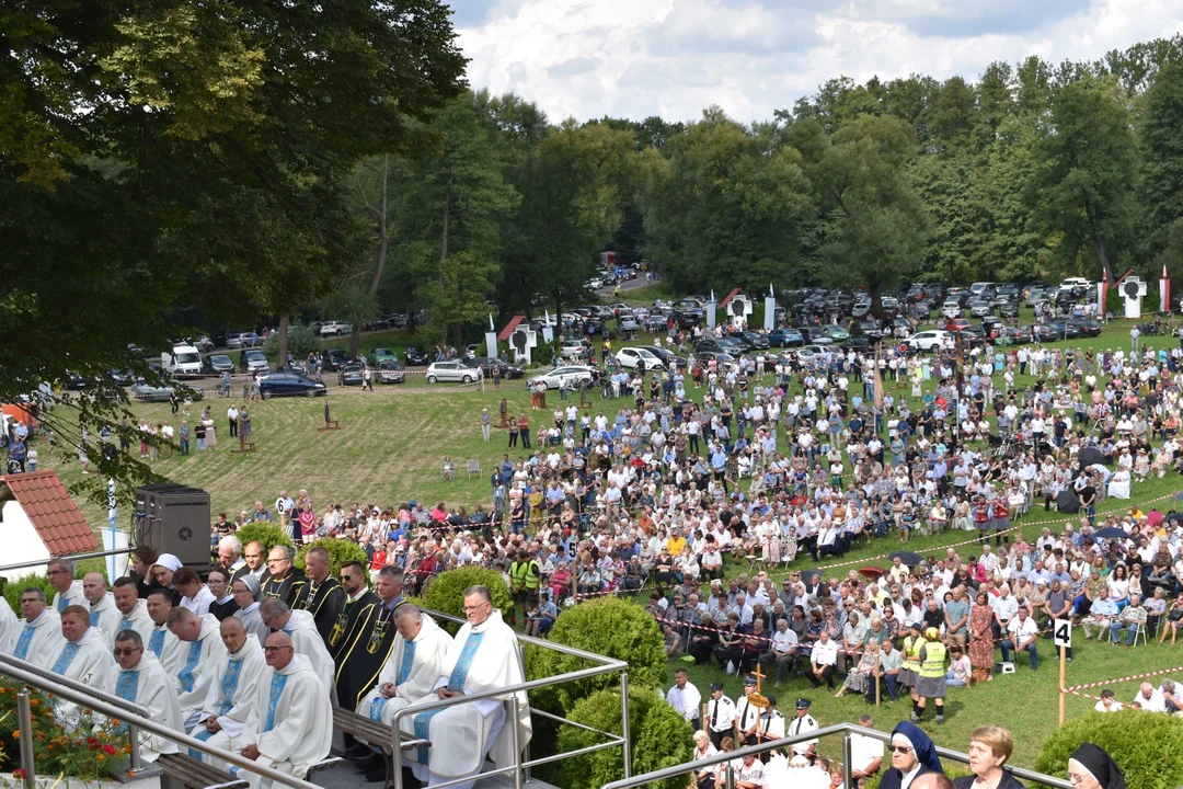
[[[557,122],[751,122],[830,77],[975,79],[993,60],[1094,59],[1183,28],[1181,0],[451,0],[468,82]]]

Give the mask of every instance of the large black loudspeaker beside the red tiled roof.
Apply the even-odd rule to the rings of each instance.
[[[209,570],[209,493],[185,485],[136,491],[136,544],[172,554],[200,574]]]

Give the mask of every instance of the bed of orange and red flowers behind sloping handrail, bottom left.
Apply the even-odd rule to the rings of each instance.
[[[0,770],[20,769],[20,741],[33,739],[38,774],[106,781],[127,770],[131,743],[119,722],[89,709],[54,704],[49,693],[28,688],[32,730],[21,731],[17,714],[20,683],[0,679]],[[69,716],[64,709],[70,709]]]

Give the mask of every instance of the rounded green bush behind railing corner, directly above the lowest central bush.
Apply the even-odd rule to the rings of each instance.
[[[628,664],[628,678],[641,687],[665,681],[666,657],[661,628],[645,609],[619,597],[600,597],[565,609],[550,630],[550,640],[594,652]],[[529,675],[554,677],[580,668],[588,661],[549,649],[528,651]],[[560,706],[570,712],[576,701],[595,691],[619,685],[616,674],[601,674],[563,683],[556,688]]]

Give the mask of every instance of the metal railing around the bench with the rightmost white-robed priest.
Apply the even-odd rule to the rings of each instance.
[[[460,623],[460,625],[463,625],[464,622],[467,621],[467,620],[461,619],[459,616],[452,616],[451,614],[444,614],[444,613],[435,612],[435,610],[424,609],[424,613],[431,614],[433,617],[435,617],[438,620],[447,620],[450,622],[457,622],[457,623]],[[393,741],[392,741],[392,751],[393,751],[393,758],[394,758],[394,771],[392,772],[392,775],[395,776],[395,780],[397,780],[399,776],[402,774],[402,767],[405,764],[403,758],[402,758],[402,748],[403,748],[405,744],[409,744],[409,743],[403,743],[403,739],[402,739],[403,738],[403,733],[402,733],[402,729],[400,726],[400,723],[402,722],[403,718],[409,717],[409,716],[418,716],[420,713],[428,712],[431,710],[445,710],[447,707],[455,706],[458,704],[468,704],[471,701],[478,701],[480,699],[493,699],[493,698],[498,698],[498,697],[504,697],[506,693],[512,693],[513,694],[508,700],[509,711],[508,711],[508,713],[505,716],[506,727],[509,730],[508,733],[510,736],[510,742],[511,742],[512,748],[513,748],[513,764],[511,764],[509,767],[498,768],[496,770],[483,771],[483,772],[480,772],[480,777],[493,776],[493,775],[510,775],[510,774],[512,774],[515,789],[522,789],[524,780],[529,780],[530,768],[532,768],[532,767],[537,767],[539,764],[548,764],[550,762],[558,762],[558,761],[562,761],[562,759],[565,759],[565,758],[570,758],[573,756],[578,756],[581,754],[590,754],[590,752],[594,752],[594,751],[600,751],[600,750],[605,750],[605,749],[608,749],[608,748],[618,748],[618,746],[621,748],[622,751],[623,751],[622,763],[623,763],[623,769],[625,769],[625,776],[627,777],[627,776],[632,775],[632,772],[633,772],[633,767],[632,767],[632,749],[629,746],[629,731],[628,731],[628,664],[625,662],[623,660],[615,660],[613,658],[606,658],[603,655],[597,655],[597,654],[595,654],[593,652],[586,652],[583,649],[576,649],[575,647],[569,647],[569,646],[565,646],[565,645],[562,645],[562,644],[554,644],[552,641],[547,641],[545,639],[537,639],[537,638],[532,638],[532,636],[529,636],[529,635],[517,634],[517,640],[518,640],[519,646],[521,645],[525,645],[525,644],[531,644],[531,645],[535,645],[535,646],[538,646],[538,647],[542,647],[542,648],[545,648],[545,649],[552,649],[555,652],[561,652],[563,654],[568,654],[568,655],[571,655],[571,657],[575,657],[575,658],[581,658],[583,660],[587,660],[589,662],[597,664],[597,665],[595,665],[595,666],[593,666],[590,668],[581,668],[578,671],[571,671],[571,672],[567,672],[567,673],[563,673],[563,674],[557,674],[555,677],[548,677],[545,679],[532,679],[532,680],[528,680],[528,681],[524,681],[524,683],[517,683],[516,685],[509,685],[506,687],[498,687],[498,688],[492,690],[492,691],[484,691],[484,692],[480,692],[480,693],[470,693],[470,694],[464,694],[464,696],[457,696],[457,697],[447,698],[447,699],[432,699],[429,701],[428,700],[422,700],[422,701],[419,701],[419,703],[416,703],[416,704],[414,704],[412,706],[407,706],[407,707],[402,707],[401,710],[397,710],[394,713],[394,720],[392,722],[392,732],[393,732],[392,733],[392,737],[393,737]],[[521,649],[518,652],[518,659],[522,660]],[[542,716],[544,718],[549,718],[549,719],[552,719],[552,720],[556,720],[556,722],[560,722],[560,723],[564,723],[564,724],[568,724],[568,725],[574,725],[574,726],[576,726],[578,729],[583,729],[586,731],[593,731],[593,732],[595,732],[595,733],[601,735],[602,737],[605,737],[606,742],[599,743],[596,745],[588,745],[586,748],[581,748],[581,749],[577,749],[577,750],[574,750],[574,751],[568,751],[565,754],[556,754],[554,756],[545,756],[545,757],[537,758],[537,759],[530,759],[529,758],[529,754],[528,754],[525,761],[523,761],[523,758],[522,758],[523,746],[522,746],[522,743],[518,739],[519,738],[519,732],[518,732],[518,725],[517,725],[518,716],[521,713],[521,701],[518,700],[518,698],[516,696],[518,692],[531,691],[531,690],[536,690],[536,688],[539,688],[539,687],[547,687],[547,686],[550,686],[550,685],[558,685],[561,683],[567,683],[567,681],[571,681],[571,680],[576,680],[576,679],[588,679],[590,677],[602,677],[603,674],[613,674],[613,673],[616,673],[616,672],[620,672],[620,711],[621,711],[621,730],[620,730],[621,733],[620,735],[614,735],[614,733],[612,733],[609,731],[603,731],[602,729],[595,729],[593,726],[587,726],[587,725],[583,725],[583,724],[575,724],[575,723],[565,720],[564,718],[561,718],[558,716],[554,716],[554,714],[551,714],[551,713],[549,713],[549,712],[547,712],[544,710],[534,710],[534,709],[530,709],[531,716],[537,714],[537,716]],[[524,672],[524,660],[523,660],[523,674],[525,672]],[[504,729],[503,729],[503,733],[504,733]],[[500,735],[498,735],[498,736],[500,736]],[[481,754],[480,756],[484,756],[484,754]],[[451,785],[454,785],[454,784],[458,784],[458,783],[465,783],[465,782],[471,781],[471,780],[472,780],[471,776],[466,776],[466,777],[461,777],[461,778],[453,778],[451,781],[444,781],[444,782],[440,782],[440,783],[434,783],[432,785],[437,787],[437,788],[440,788],[440,787],[451,787]]]

